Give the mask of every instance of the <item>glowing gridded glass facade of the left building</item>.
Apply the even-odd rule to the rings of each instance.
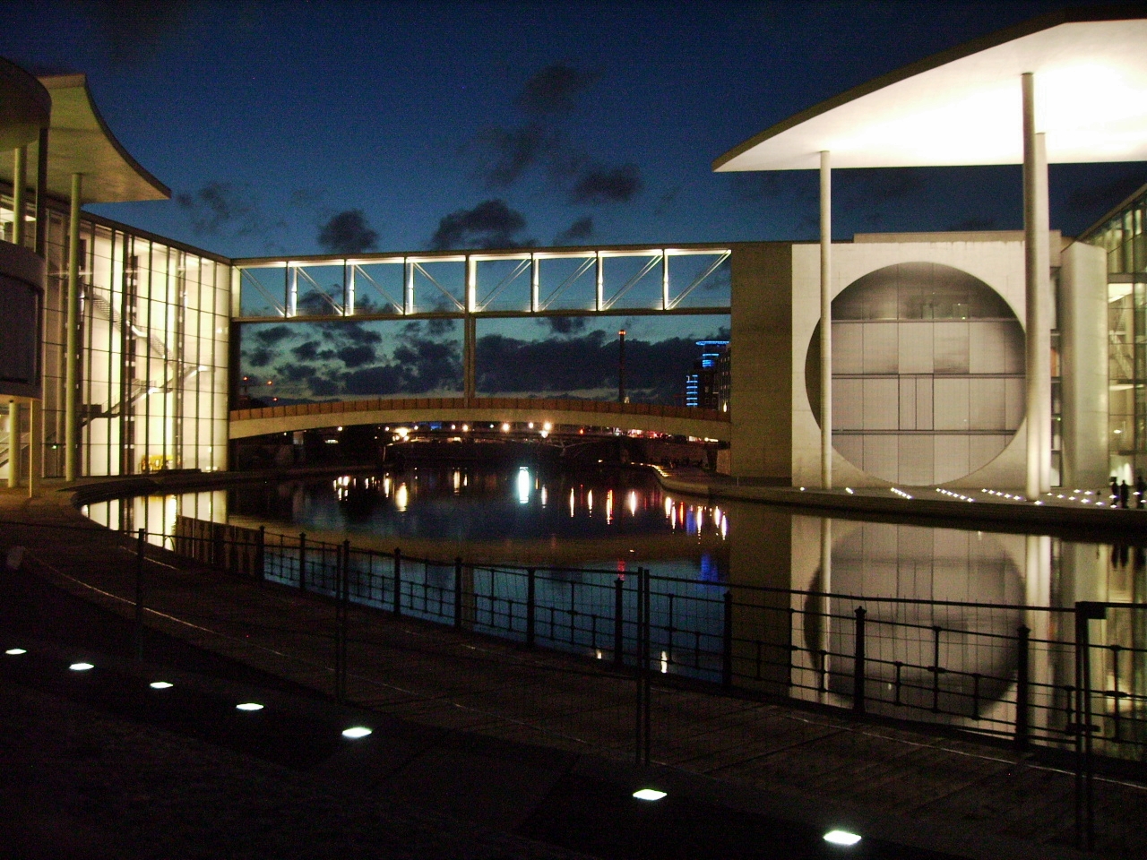
[[[49,209],[48,216],[44,421],[37,443],[42,476],[60,477],[68,214]],[[0,196],[0,222],[11,222],[8,195]],[[29,232],[33,228],[30,224]],[[226,469],[231,266],[86,213],[79,235],[79,474]]]

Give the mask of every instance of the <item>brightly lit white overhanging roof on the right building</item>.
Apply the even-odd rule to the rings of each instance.
[[[1141,10],[1141,7],[1140,7]],[[1062,11],[976,39],[813,105],[715,171],[1023,163],[1021,76],[1047,161],[1147,161],[1147,18]]]

